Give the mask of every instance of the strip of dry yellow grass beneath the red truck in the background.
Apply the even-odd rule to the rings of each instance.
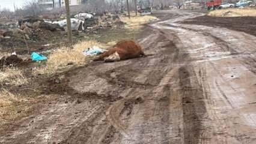
[[[223,10],[210,11],[208,16],[216,17],[240,17],[240,16],[256,16],[255,9],[239,9],[239,8],[228,8]]]

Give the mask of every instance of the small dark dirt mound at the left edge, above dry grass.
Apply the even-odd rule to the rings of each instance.
[[[0,60],[0,68],[2,67],[9,67],[9,66],[19,66],[23,64],[23,60],[18,58],[17,55],[11,55],[11,56],[8,56],[8,57],[3,57],[1,58]]]

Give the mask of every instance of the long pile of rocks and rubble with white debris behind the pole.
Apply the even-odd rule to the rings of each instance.
[[[13,20],[14,21],[14,20]],[[99,29],[116,28],[124,25],[116,14],[77,14],[71,19],[74,34],[78,32],[97,34]],[[67,20],[65,17],[58,19],[43,19],[43,17],[25,17],[16,22],[0,24],[0,49],[8,47],[26,47],[28,43],[44,45],[60,41],[66,37]],[[37,49],[38,47],[32,47]]]

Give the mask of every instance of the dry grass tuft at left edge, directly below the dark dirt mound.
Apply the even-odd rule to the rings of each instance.
[[[18,68],[4,68],[0,71],[0,83],[9,83],[10,85],[23,85],[28,83],[22,70]]]

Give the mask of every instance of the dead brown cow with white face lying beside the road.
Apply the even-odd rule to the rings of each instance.
[[[99,58],[94,59],[94,61],[115,62],[141,56],[145,56],[141,46],[132,40],[122,40],[107,52],[102,53]]]

